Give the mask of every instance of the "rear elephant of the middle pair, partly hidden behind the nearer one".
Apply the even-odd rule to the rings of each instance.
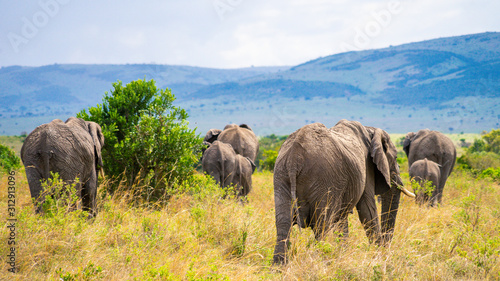
[[[246,125],[229,124],[223,131],[211,129],[207,132],[204,144],[219,140],[230,144],[237,154],[248,157],[255,162],[257,153],[259,153],[259,140],[252,129]]]

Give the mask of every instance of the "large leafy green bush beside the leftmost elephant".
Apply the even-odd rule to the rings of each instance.
[[[187,112],[173,106],[169,89],[158,89],[154,80],[113,87],[102,104],[77,115],[102,127],[104,171],[115,180],[109,191],[125,181],[147,201],[164,196],[191,177],[201,140],[188,128]]]

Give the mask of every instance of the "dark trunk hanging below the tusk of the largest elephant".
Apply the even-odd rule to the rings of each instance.
[[[401,180],[399,176],[397,176],[397,178],[398,181]],[[401,198],[401,191],[402,190],[399,189],[396,184],[393,184],[391,189],[381,196],[382,244],[387,244],[392,240],[394,226],[396,225],[396,216],[398,214],[399,200]]]

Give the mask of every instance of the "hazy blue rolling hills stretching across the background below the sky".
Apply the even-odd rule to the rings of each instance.
[[[0,69],[0,134],[29,132],[101,102],[121,80],[168,87],[200,133],[247,123],[259,135],[359,120],[390,132],[490,130],[500,122],[500,33],[348,52],[293,67],[49,65]]]

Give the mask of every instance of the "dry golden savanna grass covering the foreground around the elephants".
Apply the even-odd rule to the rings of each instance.
[[[407,162],[401,171],[410,188]],[[19,272],[7,271],[9,231],[2,227],[0,280],[500,279],[500,186],[491,179],[456,168],[439,208],[402,196],[388,247],[368,243],[356,211],[346,240],[330,234],[317,242],[310,229],[295,226],[288,264],[273,266],[272,178],[268,171],[255,173],[245,205],[223,199],[203,175],[166,206],[133,204],[127,192],[100,193],[99,214],[88,220],[64,206],[35,215],[22,168],[15,175]],[[4,175],[5,225],[7,185]]]

